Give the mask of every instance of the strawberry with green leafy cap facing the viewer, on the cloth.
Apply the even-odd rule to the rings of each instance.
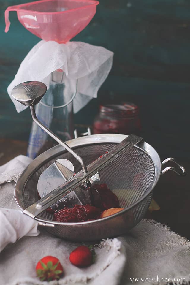
[[[58,258],[45,256],[36,265],[36,273],[41,281],[59,280],[63,267]]]

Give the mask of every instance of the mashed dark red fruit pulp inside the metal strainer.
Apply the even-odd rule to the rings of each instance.
[[[118,208],[119,201],[115,194],[107,188],[106,184],[96,185],[100,194],[100,201],[95,206],[74,205],[72,208],[64,207],[54,213],[53,220],[58,222],[83,222],[100,219],[101,213],[110,208]]]

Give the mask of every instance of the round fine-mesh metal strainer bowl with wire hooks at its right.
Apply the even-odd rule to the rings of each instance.
[[[88,165],[126,137],[128,136],[120,134],[97,134],[79,137],[66,143]],[[39,176],[60,158],[72,162],[75,172],[81,170],[81,164],[61,145],[42,153],[23,171],[15,185],[15,199],[23,211],[39,200],[37,194]],[[52,221],[53,216],[47,211],[43,211],[35,219],[47,232],[73,241],[99,240],[121,235],[144,217],[151,203],[152,190],[162,174],[168,170],[173,170],[179,175],[185,174],[184,168],[177,162],[175,163],[179,168],[166,167],[162,170],[162,165],[170,160],[175,162],[172,158],[161,162],[154,148],[141,141],[100,172],[100,183],[106,183],[117,195],[120,207],[124,210],[102,219],[77,223]]]

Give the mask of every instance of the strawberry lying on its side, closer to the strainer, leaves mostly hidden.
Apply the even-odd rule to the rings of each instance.
[[[70,262],[77,267],[87,267],[93,263],[94,251],[91,251],[92,246],[78,246],[70,253]]]

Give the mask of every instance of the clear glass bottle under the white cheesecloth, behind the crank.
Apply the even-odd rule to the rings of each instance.
[[[35,111],[37,118],[62,140],[74,136],[73,104],[77,80],[69,80],[61,69],[51,73],[50,85]],[[57,143],[36,123],[32,123],[27,156],[34,159]]]

